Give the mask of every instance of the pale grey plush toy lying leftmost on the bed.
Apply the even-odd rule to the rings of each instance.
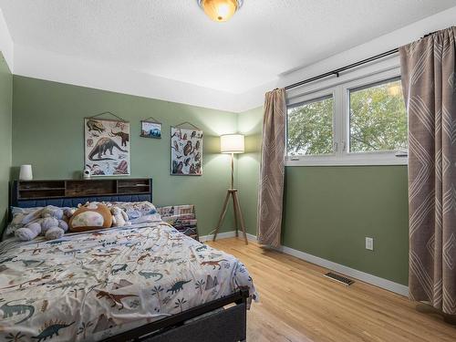
[[[47,240],[59,239],[68,230],[62,209],[53,205],[31,212],[22,220],[24,227],[16,230],[16,237],[21,241],[30,241],[38,235],[45,235]]]

